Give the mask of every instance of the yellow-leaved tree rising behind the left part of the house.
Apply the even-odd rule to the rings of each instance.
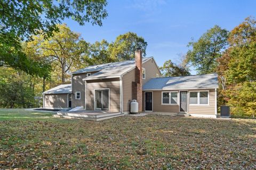
[[[58,25],[58,32],[45,39],[44,36],[33,36],[33,41],[27,43],[27,53],[35,58],[51,63],[53,75],[65,83],[70,71],[81,68],[81,56],[86,53],[88,44],[79,33],[73,32],[66,24]]]

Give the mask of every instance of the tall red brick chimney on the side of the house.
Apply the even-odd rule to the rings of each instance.
[[[135,80],[137,83],[137,102],[139,112],[142,112],[142,51],[141,48],[135,50]]]

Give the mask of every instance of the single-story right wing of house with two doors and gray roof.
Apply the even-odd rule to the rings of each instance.
[[[154,78],[143,86],[145,112],[217,117],[218,75]]]

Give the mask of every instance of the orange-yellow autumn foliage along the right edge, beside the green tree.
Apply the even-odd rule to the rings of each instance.
[[[229,47],[218,58],[219,103],[236,115],[256,114],[256,21],[245,21],[230,31]]]

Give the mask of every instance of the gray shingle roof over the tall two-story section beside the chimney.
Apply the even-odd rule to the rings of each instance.
[[[142,63],[150,60],[151,58],[153,57],[142,58]],[[117,77],[120,77],[122,74],[126,73],[127,71],[130,71],[134,67],[135,67],[135,61],[129,60],[129,61],[123,61],[123,62],[89,66],[82,70],[78,70],[73,74],[99,71],[97,73],[92,74],[89,77],[84,78],[83,80],[117,78]]]

